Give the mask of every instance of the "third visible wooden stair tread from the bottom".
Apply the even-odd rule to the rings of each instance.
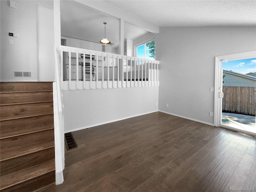
[[[16,130],[16,131],[12,131],[12,132],[5,132],[5,133],[1,133],[0,140],[5,139],[5,138],[10,138],[10,137],[21,136],[21,135],[25,135],[25,134],[41,132],[41,131],[50,130],[50,129],[54,129],[54,127],[52,127],[52,126],[36,127],[36,128],[33,128],[32,131],[31,131],[31,128],[28,128],[28,129],[25,128],[25,129],[22,129],[22,130]]]

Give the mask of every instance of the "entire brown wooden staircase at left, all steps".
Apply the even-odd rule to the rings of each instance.
[[[0,83],[0,191],[55,183],[52,82]]]

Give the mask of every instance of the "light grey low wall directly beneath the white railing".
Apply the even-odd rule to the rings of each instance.
[[[158,110],[158,87],[63,91],[65,132]]]

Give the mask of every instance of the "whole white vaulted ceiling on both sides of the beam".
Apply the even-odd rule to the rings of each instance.
[[[84,0],[83,2],[89,2]],[[256,26],[256,0],[99,0],[95,1],[160,27]],[[118,47],[118,18],[73,0],[61,0],[61,33],[99,42],[104,37]],[[114,14],[113,14],[114,15]],[[134,21],[136,22],[136,21]],[[124,38],[136,39],[146,30],[125,22]]]

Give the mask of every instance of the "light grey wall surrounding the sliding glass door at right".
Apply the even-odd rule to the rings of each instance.
[[[214,57],[256,50],[255,34],[255,27],[160,28],[159,110],[213,124]]]

